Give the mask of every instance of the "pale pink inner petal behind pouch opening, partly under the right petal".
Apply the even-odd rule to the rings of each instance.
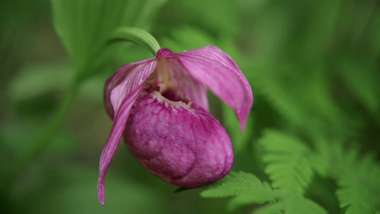
[[[173,77],[178,83],[178,91],[185,96],[189,96],[190,101],[208,112],[209,101],[207,99],[206,86],[190,76],[176,59],[167,58],[166,64],[170,77]]]

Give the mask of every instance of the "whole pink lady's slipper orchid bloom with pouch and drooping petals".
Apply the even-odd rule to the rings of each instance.
[[[155,176],[174,185],[198,187],[231,169],[230,138],[209,113],[206,87],[234,110],[241,131],[252,90],[235,62],[215,46],[124,64],[107,81],[105,107],[113,119],[100,157],[98,198],[121,136],[131,154]]]

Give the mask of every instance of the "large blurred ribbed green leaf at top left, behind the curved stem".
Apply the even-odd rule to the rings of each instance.
[[[79,79],[105,69],[112,55],[122,48],[107,45],[116,29],[136,26],[147,29],[159,0],[51,0],[53,23],[76,65]]]

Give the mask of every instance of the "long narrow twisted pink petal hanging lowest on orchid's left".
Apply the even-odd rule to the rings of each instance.
[[[110,97],[115,116],[99,164],[98,199],[102,205],[104,205],[104,179],[108,165],[119,144],[131,107],[138,97],[142,84],[155,67],[155,59],[137,64],[111,92]]]

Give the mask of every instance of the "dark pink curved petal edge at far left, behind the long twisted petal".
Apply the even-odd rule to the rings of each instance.
[[[153,58],[143,59],[138,62],[123,64],[116,70],[116,72],[111,77],[108,78],[104,86],[103,98],[104,98],[104,105],[109,117],[111,117],[112,119],[114,118],[114,109],[112,108],[112,104],[111,104],[111,91],[124,80],[127,74],[131,70],[133,70],[133,68],[136,65],[152,61],[152,59]]]

